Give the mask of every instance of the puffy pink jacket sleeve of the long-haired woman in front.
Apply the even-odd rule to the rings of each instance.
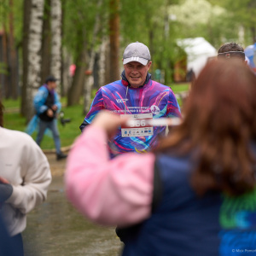
[[[75,141],[67,158],[67,198],[98,224],[136,224],[151,212],[154,154],[110,160],[106,143],[106,132],[93,124]]]

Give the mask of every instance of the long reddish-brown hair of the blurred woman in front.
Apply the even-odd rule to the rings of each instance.
[[[256,77],[241,61],[210,61],[183,107],[183,123],[157,151],[194,151],[191,183],[199,195],[218,189],[240,195],[255,185]]]

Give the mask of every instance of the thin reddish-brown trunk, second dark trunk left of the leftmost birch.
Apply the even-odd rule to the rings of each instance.
[[[9,0],[9,79],[10,79],[10,93],[13,99],[18,98],[18,63],[17,51],[15,48],[14,35],[14,2]]]

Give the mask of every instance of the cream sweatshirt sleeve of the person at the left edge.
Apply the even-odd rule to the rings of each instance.
[[[27,136],[26,143],[23,144],[18,159],[21,183],[12,184],[13,194],[5,202],[25,214],[46,199],[52,177],[49,162],[32,137]]]

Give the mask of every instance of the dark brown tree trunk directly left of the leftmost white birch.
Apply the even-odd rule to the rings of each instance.
[[[27,86],[27,70],[28,70],[28,37],[29,37],[29,24],[32,9],[32,0],[24,0],[23,3],[23,40],[22,40],[22,88],[21,88],[21,101],[20,113],[26,116],[26,86]]]

